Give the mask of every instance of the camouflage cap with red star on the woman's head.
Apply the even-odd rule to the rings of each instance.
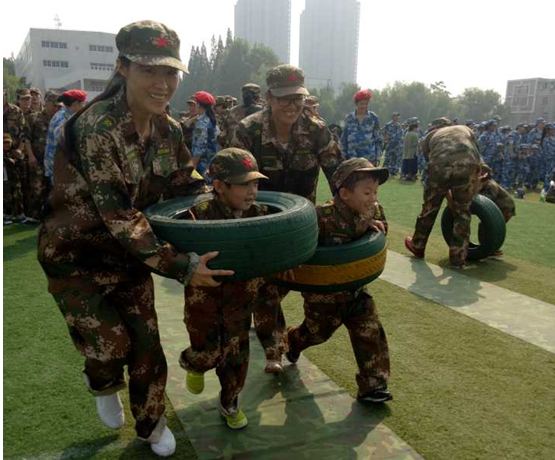
[[[155,21],[138,21],[122,27],[116,36],[120,56],[142,65],[165,65],[189,73],[179,57],[179,37]]]

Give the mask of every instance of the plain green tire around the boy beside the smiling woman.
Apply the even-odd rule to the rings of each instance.
[[[312,257],[318,245],[314,205],[306,198],[259,192],[257,202],[271,214],[248,219],[180,219],[189,208],[212,199],[211,194],[175,198],[154,204],[144,213],[158,238],[180,252],[199,255],[218,251],[213,270],[233,270],[226,280],[247,280],[296,267]]]

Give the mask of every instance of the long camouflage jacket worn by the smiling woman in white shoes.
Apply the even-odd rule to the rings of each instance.
[[[39,231],[38,258],[50,292],[114,284],[150,271],[181,282],[192,276],[198,255],[158,239],[141,210],[162,197],[205,190],[192,174],[177,122],[165,115],[152,124],[145,144],[124,90],[76,121],[74,148],[56,154],[54,188]]]

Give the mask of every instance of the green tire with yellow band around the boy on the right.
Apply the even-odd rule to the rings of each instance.
[[[314,256],[295,268],[295,281],[272,278],[292,291],[329,294],[358,289],[378,278],[387,257],[383,233],[368,233],[340,246],[321,246]]]

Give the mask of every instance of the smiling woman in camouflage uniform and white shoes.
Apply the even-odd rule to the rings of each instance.
[[[64,126],[38,258],[85,357],[100,419],[123,426],[118,391],[127,365],[137,434],[169,456],[175,438],[165,425],[167,366],[151,271],[191,285],[216,285],[212,276],[233,272],[208,269],[217,253],[199,258],[159,240],[141,212],[162,197],[203,191],[182,131],[165,113],[179,71],[187,71],[179,38],[141,21],[122,28],[116,45],[117,70],[105,92]]]

